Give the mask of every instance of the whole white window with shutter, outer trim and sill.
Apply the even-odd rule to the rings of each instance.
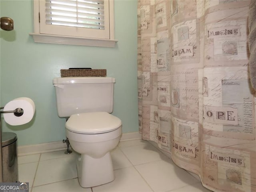
[[[114,47],[113,0],[34,0],[35,42]]]

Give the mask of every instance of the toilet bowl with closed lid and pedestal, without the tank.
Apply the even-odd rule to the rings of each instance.
[[[92,187],[114,180],[110,151],[122,134],[121,120],[107,112],[74,114],[66,122],[66,136],[81,154],[76,161],[78,181]]]

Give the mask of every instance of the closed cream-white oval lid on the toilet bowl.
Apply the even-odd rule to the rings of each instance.
[[[72,132],[95,134],[110,132],[121,125],[119,118],[107,112],[89,112],[71,115],[65,126]]]

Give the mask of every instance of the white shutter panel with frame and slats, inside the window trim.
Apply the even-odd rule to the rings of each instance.
[[[40,0],[40,34],[110,39],[108,0]]]

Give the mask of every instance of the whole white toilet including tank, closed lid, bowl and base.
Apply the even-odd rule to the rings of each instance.
[[[54,78],[58,116],[68,118],[65,128],[76,161],[78,181],[84,188],[114,180],[110,151],[120,141],[122,122],[113,116],[115,78]]]

